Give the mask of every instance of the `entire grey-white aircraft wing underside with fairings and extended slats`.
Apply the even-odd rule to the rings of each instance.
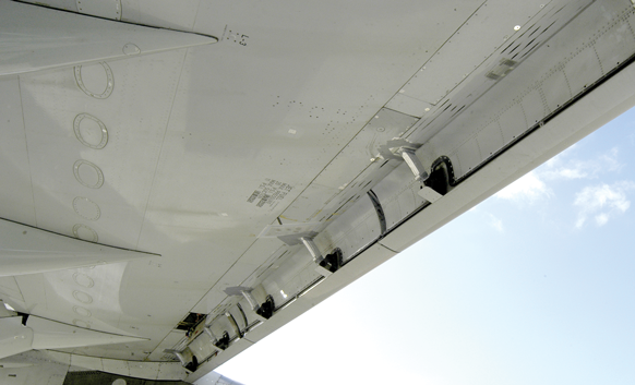
[[[627,0],[35,3],[0,0],[8,384],[194,382],[635,104]]]

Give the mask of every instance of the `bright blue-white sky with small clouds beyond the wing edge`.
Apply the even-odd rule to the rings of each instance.
[[[217,372],[245,385],[635,384],[634,128],[635,109]]]

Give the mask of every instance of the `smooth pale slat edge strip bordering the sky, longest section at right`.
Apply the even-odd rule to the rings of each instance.
[[[635,67],[631,65],[505,152],[503,156],[488,164],[474,177],[448,192],[443,200],[391,232],[382,243],[392,250],[406,249],[537,165],[547,161],[625,112],[635,104],[634,84]],[[567,130],[561,130],[563,127]]]

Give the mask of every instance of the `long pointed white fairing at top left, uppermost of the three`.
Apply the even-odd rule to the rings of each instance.
[[[118,0],[117,0],[118,1]],[[88,0],[101,12],[112,0]],[[216,43],[215,38],[115,23],[45,7],[1,1],[0,76]],[[9,38],[12,37],[12,38]]]

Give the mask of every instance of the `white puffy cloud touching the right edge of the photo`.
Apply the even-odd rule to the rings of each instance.
[[[597,226],[604,226],[611,217],[625,213],[631,207],[626,193],[634,189],[635,183],[631,181],[584,188],[575,195],[573,203],[578,207],[575,227],[582,228],[591,216]]]

